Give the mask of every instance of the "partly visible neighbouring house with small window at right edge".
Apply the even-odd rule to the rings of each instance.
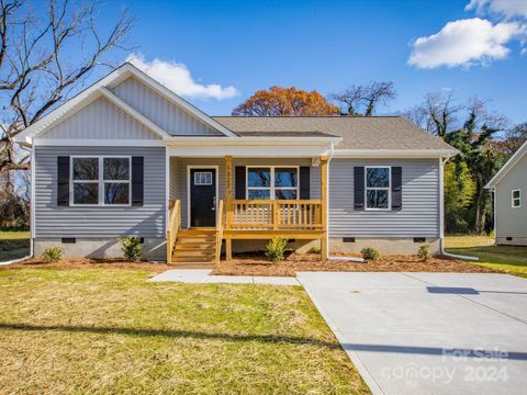
[[[495,244],[527,246],[527,142],[485,188],[494,192]]]

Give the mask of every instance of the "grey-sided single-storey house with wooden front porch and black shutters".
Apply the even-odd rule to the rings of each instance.
[[[222,248],[415,253],[442,240],[457,151],[400,116],[209,116],[124,64],[16,136],[32,149],[34,253],[210,262]]]

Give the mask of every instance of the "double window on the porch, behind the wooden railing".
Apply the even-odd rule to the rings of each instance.
[[[247,199],[299,199],[299,168],[248,167]]]

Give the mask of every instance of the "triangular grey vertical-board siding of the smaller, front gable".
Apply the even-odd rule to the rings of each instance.
[[[38,138],[159,139],[159,136],[105,98],[99,98]]]

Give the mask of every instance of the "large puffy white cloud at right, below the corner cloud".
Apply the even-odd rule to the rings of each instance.
[[[509,53],[505,45],[522,34],[525,26],[517,22],[493,25],[480,18],[448,22],[439,33],[412,44],[408,64],[428,69],[487,64],[505,58]]]

